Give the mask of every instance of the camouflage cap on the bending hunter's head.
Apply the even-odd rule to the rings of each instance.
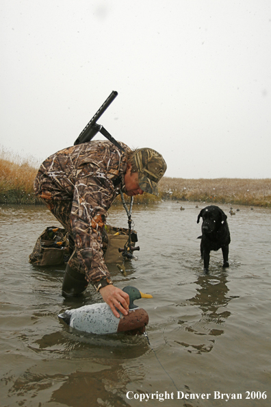
[[[137,149],[133,154],[135,166],[138,168],[138,183],[144,192],[158,195],[157,183],[166,172],[166,161],[161,154],[153,149]]]

